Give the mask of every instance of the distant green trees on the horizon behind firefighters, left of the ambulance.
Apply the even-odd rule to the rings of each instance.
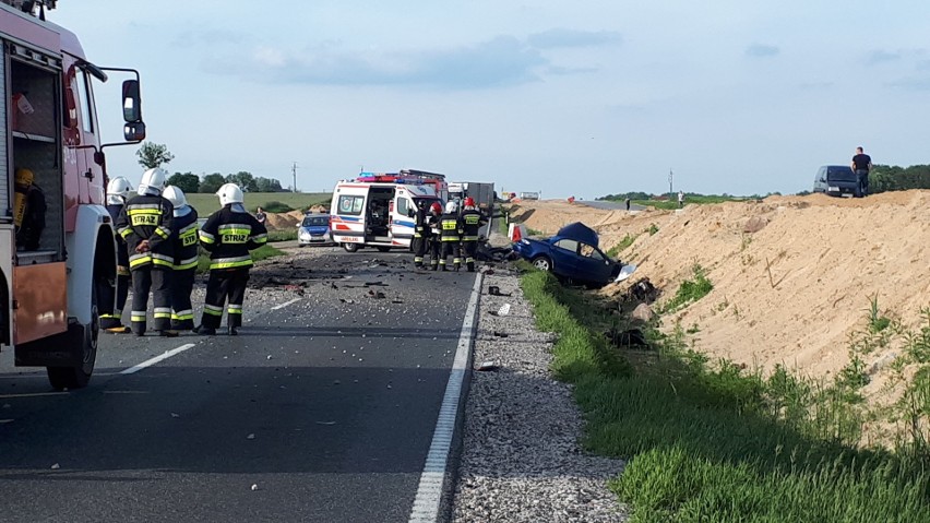
[[[154,169],[169,164],[175,159],[175,155],[168,151],[164,144],[144,142],[139,151],[135,152],[139,156],[139,165],[146,169]],[[240,170],[234,175],[222,175],[213,173],[201,177],[193,173],[175,173],[168,177],[168,185],[175,186],[186,193],[203,192],[214,193],[224,183],[236,183],[245,192],[285,192],[281,187],[281,181],[274,178],[264,178],[262,176],[252,176],[251,173]]]

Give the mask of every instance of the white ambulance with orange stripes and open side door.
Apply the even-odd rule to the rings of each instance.
[[[386,252],[409,249],[420,203],[444,203],[445,177],[432,173],[361,173],[333,190],[330,228],[333,241],[348,252],[369,246]]]

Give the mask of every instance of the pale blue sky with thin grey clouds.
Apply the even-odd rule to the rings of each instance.
[[[140,71],[171,173],[287,187],[296,163],[315,192],[413,168],[594,199],[670,173],[676,192],[810,190],[859,145],[930,163],[926,0],[60,0],[48,19]],[[136,148],[107,148],[111,176],[141,176]]]

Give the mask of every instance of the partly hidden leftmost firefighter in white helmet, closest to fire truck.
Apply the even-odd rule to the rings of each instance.
[[[128,179],[120,176],[110,180],[107,183],[107,212],[110,213],[110,218],[114,223],[119,221],[119,215],[126,206],[126,201],[132,194],[132,183]],[[126,334],[130,329],[122,324],[122,309],[126,307],[126,299],[129,297],[129,286],[132,283],[132,277],[129,274],[129,253],[126,251],[126,240],[122,236],[116,236],[117,242],[117,277],[115,285],[100,285],[99,307],[100,307],[100,329],[105,329],[116,334]],[[110,308],[112,305],[115,308]]]

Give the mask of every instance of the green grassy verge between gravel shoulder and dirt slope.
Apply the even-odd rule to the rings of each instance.
[[[629,460],[610,488],[631,521],[930,521],[927,454],[858,449],[843,430],[855,371],[822,388],[784,370],[763,379],[710,365],[680,329],[653,331],[657,349],[628,362],[595,334],[608,320],[589,295],[535,271],[522,287],[538,326],[560,335],[552,370],[574,384],[585,448]],[[791,400],[811,388],[813,405]]]

